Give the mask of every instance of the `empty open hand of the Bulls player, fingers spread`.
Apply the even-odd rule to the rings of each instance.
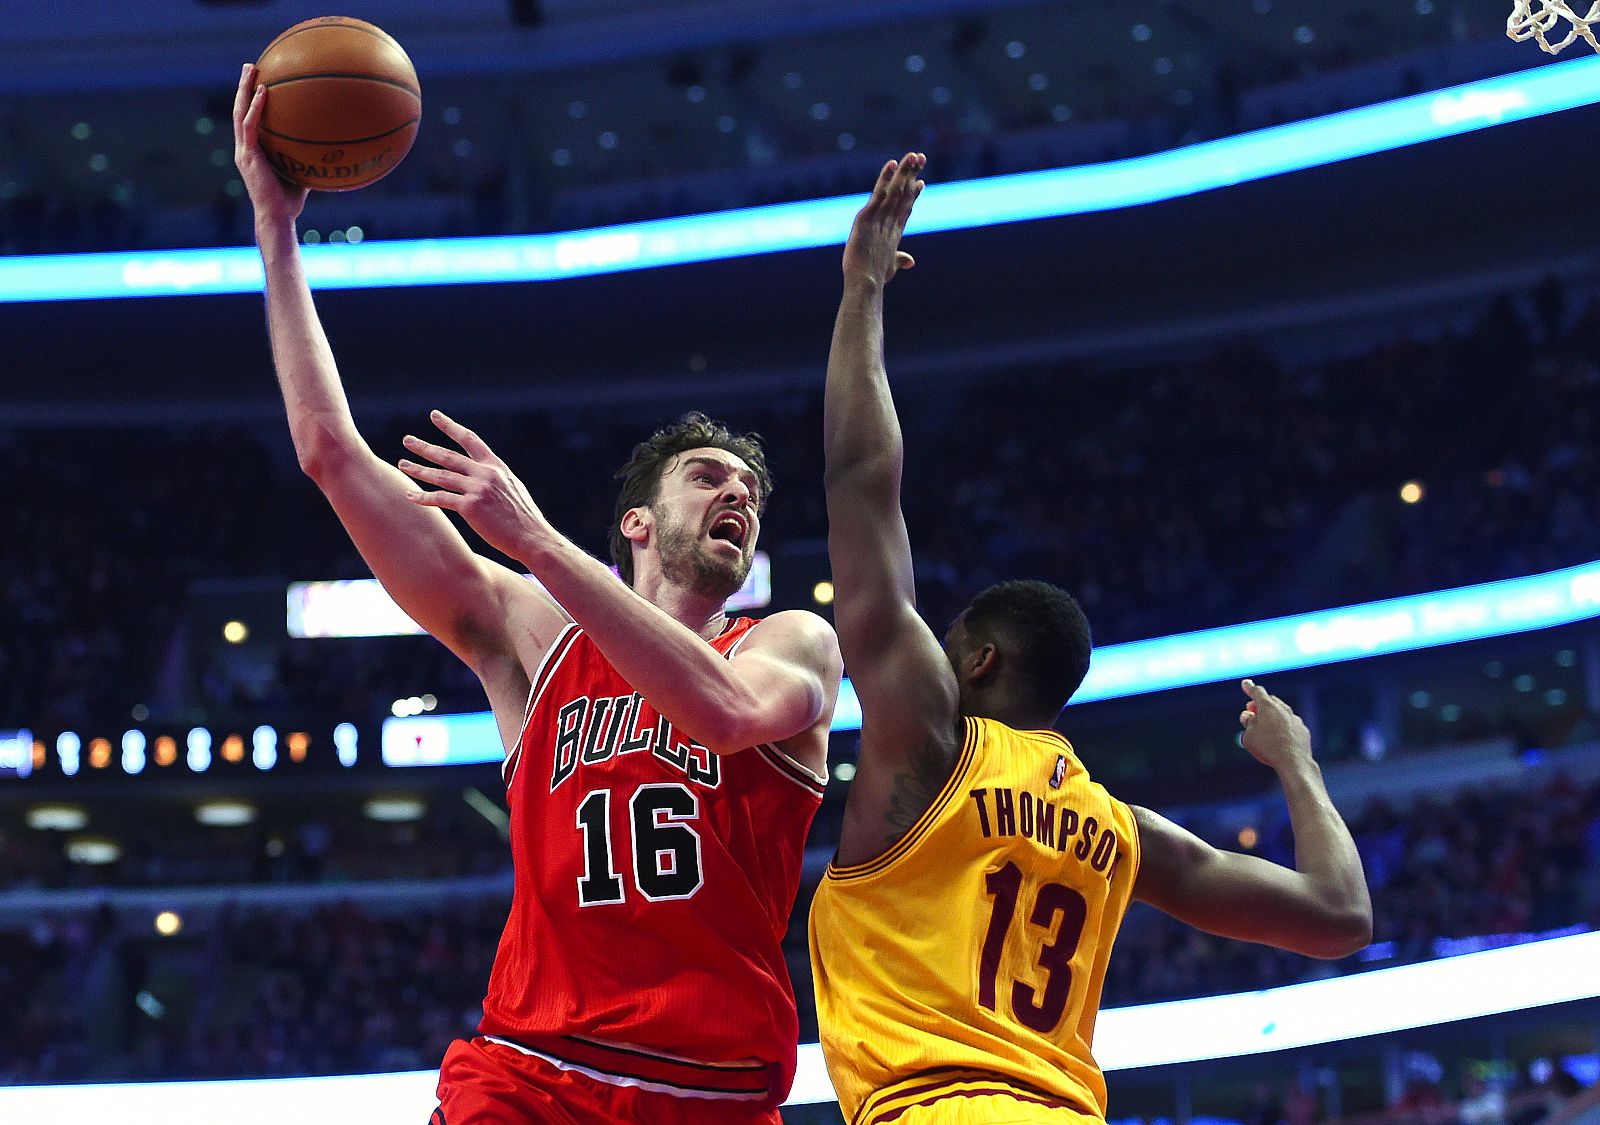
[[[406,434],[405,448],[434,464],[402,459],[400,472],[438,488],[438,491],[408,493],[411,502],[461,512],[485,542],[520,558],[530,533],[547,530],[544,514],[482,437],[442,410],[435,410],[429,418],[464,453]]]

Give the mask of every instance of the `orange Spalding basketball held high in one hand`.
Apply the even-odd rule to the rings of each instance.
[[[347,192],[382,179],[411,150],[422,90],[405,48],[349,16],[294,24],[256,59],[267,86],[261,147],[285,179]]]

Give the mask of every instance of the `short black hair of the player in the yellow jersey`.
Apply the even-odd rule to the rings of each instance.
[[[1011,664],[1022,701],[1056,715],[1090,671],[1090,621],[1059,586],[1034,579],[995,583],[966,608],[966,634],[992,642]]]

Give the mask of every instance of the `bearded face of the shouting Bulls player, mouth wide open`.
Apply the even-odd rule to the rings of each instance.
[[[661,573],[706,597],[728,599],[750,573],[762,530],[758,482],[726,450],[688,450],[661,477],[650,510]]]

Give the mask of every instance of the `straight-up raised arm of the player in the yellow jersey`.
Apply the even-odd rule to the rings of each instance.
[[[901,510],[904,451],[883,365],[883,286],[915,262],[899,248],[925,157],[888,162],[845,245],[822,406],[827,554],[845,669],[861,698],[862,746],[842,858],[910,827],[958,751],[958,688],[917,615]]]

